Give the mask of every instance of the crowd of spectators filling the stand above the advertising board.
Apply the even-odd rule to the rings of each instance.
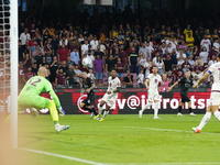
[[[99,87],[112,67],[123,87],[144,87],[144,79],[157,66],[165,82],[160,90],[166,91],[187,69],[197,82],[217,63],[220,29],[210,22],[205,26],[196,19],[180,21],[178,14],[158,14],[154,8],[146,15],[143,9],[133,13],[129,6],[123,12],[110,13],[107,8],[103,13],[95,10],[92,15],[87,10],[77,11],[68,19],[51,12],[56,13],[48,8],[20,19],[21,86],[45,66],[55,88],[79,87],[81,72],[88,72]],[[92,61],[89,68],[81,65],[86,57]],[[210,87],[212,82],[210,77],[202,86]]]

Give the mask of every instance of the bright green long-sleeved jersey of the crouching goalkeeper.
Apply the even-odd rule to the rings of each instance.
[[[40,96],[43,91],[51,95],[57,108],[61,106],[59,99],[52,88],[52,84],[42,76],[34,76],[30,78],[21,90],[19,97]]]

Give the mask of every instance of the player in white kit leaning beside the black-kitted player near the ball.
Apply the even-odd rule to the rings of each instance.
[[[99,114],[96,116],[94,119],[99,119],[101,117],[102,110],[103,110],[103,105],[106,103],[106,110],[103,112],[102,118],[100,118],[99,121],[105,121],[105,118],[109,113],[110,108],[116,103],[116,100],[118,98],[118,92],[121,87],[121,81],[117,77],[117,70],[114,68],[111,69],[111,76],[108,78],[108,84],[109,85],[107,92],[101,99],[100,106],[99,106]],[[105,85],[102,85],[105,86]]]

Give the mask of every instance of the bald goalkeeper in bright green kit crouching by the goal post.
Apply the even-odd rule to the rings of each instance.
[[[59,116],[62,117],[65,116],[65,111],[63,110],[59,99],[52,88],[52,84],[47,79],[45,79],[45,77],[47,76],[46,68],[40,67],[37,74],[38,76],[34,76],[29,79],[29,81],[21,90],[18,99],[19,110],[30,108],[31,114],[33,117],[36,117],[38,114],[37,110],[48,108],[55,124],[55,130],[58,133],[61,131],[67,130],[69,125],[59,125],[58,123],[58,113],[56,108],[58,109]],[[46,92],[51,95],[54,101],[40,96],[44,90],[46,90]]]

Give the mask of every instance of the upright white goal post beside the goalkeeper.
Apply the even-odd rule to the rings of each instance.
[[[11,108],[11,144],[18,147],[18,0],[10,0],[10,53],[11,53],[11,80],[10,80],[10,108]]]

